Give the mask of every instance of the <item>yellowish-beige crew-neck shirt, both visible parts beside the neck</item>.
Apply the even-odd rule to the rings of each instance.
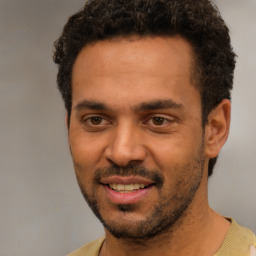
[[[237,224],[233,219],[219,250],[213,256],[256,256],[256,237],[253,232]],[[68,256],[98,256],[105,237],[84,245]],[[252,247],[251,247],[252,246]],[[250,248],[251,247],[251,248]]]

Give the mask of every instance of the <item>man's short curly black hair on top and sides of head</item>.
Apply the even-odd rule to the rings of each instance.
[[[130,36],[185,38],[194,50],[192,72],[202,101],[202,125],[223,99],[230,99],[235,68],[229,29],[210,0],[89,0],[71,16],[55,42],[58,88],[68,118],[72,106],[72,68],[92,42]],[[210,176],[217,158],[210,159]]]

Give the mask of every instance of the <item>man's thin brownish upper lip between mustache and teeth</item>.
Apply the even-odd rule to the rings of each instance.
[[[141,177],[141,176],[110,176],[107,178],[103,178],[101,179],[101,183],[104,185],[107,184],[124,184],[124,185],[128,185],[128,184],[145,184],[145,185],[150,185],[153,184],[154,182]]]

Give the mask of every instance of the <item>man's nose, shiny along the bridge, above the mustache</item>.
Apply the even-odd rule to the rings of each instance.
[[[122,167],[142,163],[146,157],[146,148],[142,143],[141,131],[138,130],[125,124],[116,127],[105,149],[106,159]]]

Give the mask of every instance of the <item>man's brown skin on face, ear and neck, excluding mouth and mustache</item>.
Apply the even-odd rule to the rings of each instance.
[[[157,206],[160,217],[172,217],[186,204],[177,220],[150,239],[117,239],[105,228],[101,255],[213,255],[225,237],[229,222],[208,205],[207,168],[227,139],[230,102],[223,100],[203,129],[192,63],[190,44],[178,36],[97,42],[76,59],[69,144],[89,204],[96,202],[103,221],[131,237],[158,225]],[[113,165],[152,170],[163,184],[121,210],[95,182],[99,170]]]

